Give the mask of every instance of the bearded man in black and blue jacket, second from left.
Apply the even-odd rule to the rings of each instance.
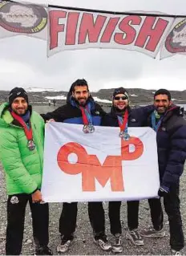
[[[44,120],[55,120],[57,122],[69,124],[84,124],[83,132],[94,132],[94,126],[100,125],[102,117],[105,115],[103,109],[96,104],[90,95],[88,84],[85,79],[78,79],[72,83],[67,95],[67,104],[57,108],[54,112],[42,114]],[[93,209],[94,210],[94,209]],[[63,203],[63,210],[59,220],[59,232],[61,243],[57,247],[58,253],[66,253],[69,250],[77,218],[77,202]],[[107,237],[95,235],[95,243],[103,250],[110,250],[111,244],[107,242]]]

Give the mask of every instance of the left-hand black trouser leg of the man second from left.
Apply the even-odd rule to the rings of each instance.
[[[61,217],[59,219],[59,233],[68,239],[74,238],[78,203],[63,203]]]

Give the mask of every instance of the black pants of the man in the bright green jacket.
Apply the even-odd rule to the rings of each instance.
[[[32,216],[34,242],[37,247],[49,242],[48,204],[34,204],[31,196],[18,194],[9,196],[7,201],[6,255],[19,255],[22,251],[25,210],[29,201]]]

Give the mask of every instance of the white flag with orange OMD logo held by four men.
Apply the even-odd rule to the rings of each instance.
[[[156,132],[128,128],[46,124],[42,197],[48,202],[127,201],[157,197]]]

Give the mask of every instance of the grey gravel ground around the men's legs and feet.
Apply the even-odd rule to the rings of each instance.
[[[186,230],[186,188],[184,184],[186,182],[186,174],[184,173],[181,179],[180,186],[180,198],[181,198],[181,212],[184,223],[184,233]],[[0,255],[5,254],[5,242],[6,242],[6,188],[4,181],[4,174],[2,171],[2,165],[0,164]],[[60,242],[59,237],[59,216],[61,212],[61,204],[50,204],[50,247],[56,254],[56,246]],[[113,238],[109,230],[109,221],[107,216],[107,202],[104,203],[104,208],[106,209],[106,226],[108,239],[112,242]],[[127,255],[168,255],[170,254],[169,248],[169,235],[168,235],[168,218],[164,217],[164,227],[166,230],[166,236],[164,238],[146,238],[145,245],[141,247],[135,247],[131,245],[125,239],[125,234],[127,232],[127,212],[126,203],[123,202],[121,208],[121,220],[123,226],[123,254]],[[151,225],[151,220],[149,216],[149,207],[147,200],[141,201],[140,213],[139,213],[139,227],[144,228]],[[186,249],[182,250],[183,254],[186,254]],[[31,228],[31,217],[30,209],[26,211],[26,221],[25,221],[25,233],[24,241],[22,246],[22,254],[29,255],[34,252],[34,243],[32,238],[32,228]],[[111,252],[103,252],[93,243],[92,230],[90,222],[87,216],[87,203],[79,203],[79,215],[77,221],[77,229],[75,232],[75,242],[71,246],[69,251],[70,255],[110,255]]]

